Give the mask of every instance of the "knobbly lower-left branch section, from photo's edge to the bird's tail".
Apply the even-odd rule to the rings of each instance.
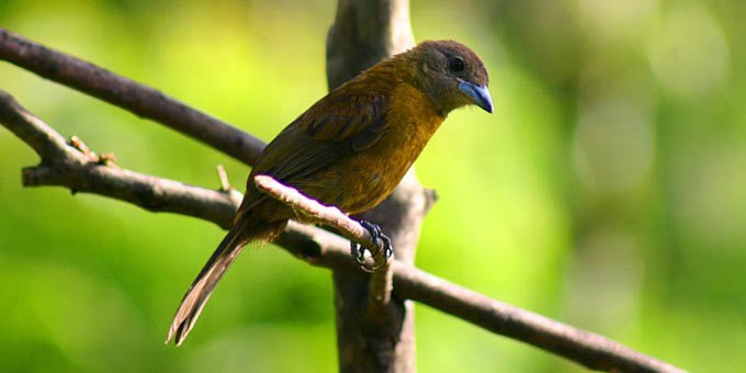
[[[0,90],[0,122],[42,158],[23,169],[24,187],[59,185],[74,192],[106,195],[151,212],[170,212],[214,222],[223,228],[240,195],[221,193],[178,181],[121,169],[69,145],[65,137]]]

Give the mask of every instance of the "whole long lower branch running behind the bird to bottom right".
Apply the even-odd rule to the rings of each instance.
[[[222,227],[230,226],[240,202],[239,195],[231,197],[225,192],[101,165],[97,158],[67,144],[60,134],[24,110],[3,91],[0,91],[0,123],[42,157],[41,166],[24,170],[24,185],[67,187],[74,191],[127,201],[154,212],[199,217]],[[337,223],[326,223],[338,224],[346,236],[355,239],[368,234],[357,222],[343,214],[337,218]],[[370,236],[365,240],[370,240]],[[310,264],[344,271],[353,276],[368,275],[351,259],[349,241],[329,231],[291,222],[276,244]],[[392,268],[394,295],[397,298],[427,304],[493,332],[524,341],[588,368],[607,371],[681,372],[608,338],[490,299],[411,265],[394,261]]]

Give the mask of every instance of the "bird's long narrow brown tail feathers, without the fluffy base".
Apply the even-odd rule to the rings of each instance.
[[[202,268],[202,271],[181,301],[177,314],[173,316],[173,321],[171,321],[171,327],[166,338],[167,344],[171,341],[171,338],[174,338],[176,344],[180,346],[190,330],[192,330],[202,308],[207,299],[210,299],[213,289],[215,289],[225,271],[241,251],[244,245],[246,245],[247,239],[242,237],[245,233],[241,233],[244,228],[239,226],[233,227],[223,241],[221,241],[215,252],[213,252],[213,256],[210,257],[204,268]]]

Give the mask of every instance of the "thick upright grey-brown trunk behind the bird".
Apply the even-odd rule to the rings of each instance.
[[[339,0],[327,39],[329,88],[414,45],[409,0]],[[412,169],[391,197],[364,214],[392,238],[397,260],[414,263],[431,195]],[[391,273],[374,276],[373,281],[385,282]],[[342,271],[334,272],[334,282],[339,371],[415,372],[414,304],[389,299],[389,293],[371,296],[369,291],[376,286],[369,287],[365,279]]]

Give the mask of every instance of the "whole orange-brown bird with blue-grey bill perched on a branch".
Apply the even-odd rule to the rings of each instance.
[[[241,248],[272,241],[289,219],[303,221],[260,192],[256,176],[349,215],[371,210],[392,193],[451,111],[476,105],[493,112],[488,80],[467,46],[426,41],[360,72],[291,122],[255,162],[234,225],[184,295],[166,343],[183,342]],[[363,226],[382,235],[371,223]]]

